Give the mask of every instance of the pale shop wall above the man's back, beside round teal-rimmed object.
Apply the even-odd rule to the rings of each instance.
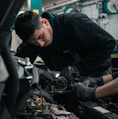
[[[118,14],[109,15],[105,13],[102,11],[101,3],[97,2],[98,0],[83,2],[81,4],[81,13],[87,14],[93,21],[118,40]]]

